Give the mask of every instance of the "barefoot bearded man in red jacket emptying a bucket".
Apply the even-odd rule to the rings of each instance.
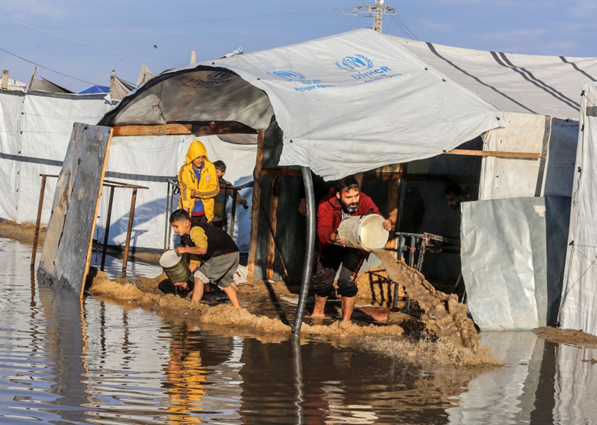
[[[350,215],[380,214],[377,206],[359,189],[359,184],[352,175],[338,180],[335,188],[319,201],[317,210],[317,235],[319,236],[319,260],[313,278],[315,290],[315,307],[312,318],[325,317],[325,303],[328,300],[334,278],[340,267],[338,276],[338,295],[341,298],[342,321],[350,321],[355,309],[356,292],[355,276],[361,268],[367,251],[349,248],[338,236],[340,221]],[[392,228],[390,220],[383,222],[386,230]]]

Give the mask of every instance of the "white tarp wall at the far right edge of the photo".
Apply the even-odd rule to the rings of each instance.
[[[597,84],[583,86],[564,288],[562,328],[597,335]]]

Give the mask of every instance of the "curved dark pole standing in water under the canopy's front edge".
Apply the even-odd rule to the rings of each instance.
[[[305,235],[303,280],[298,294],[297,313],[294,318],[293,334],[298,334],[303,325],[304,307],[309,295],[309,284],[313,270],[313,245],[315,245],[315,195],[313,194],[313,179],[309,167],[301,167],[304,183],[304,197],[307,204],[307,233]]]

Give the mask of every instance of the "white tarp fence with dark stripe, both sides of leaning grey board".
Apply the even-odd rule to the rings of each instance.
[[[100,95],[64,95],[42,92],[3,91],[0,94],[0,217],[17,223],[35,223],[38,211],[39,174],[58,175],[69,144],[73,122],[94,123],[110,109]],[[22,134],[21,134],[22,132]],[[139,189],[131,245],[163,248],[167,221],[167,178],[175,178],[189,144],[199,138],[210,159],[226,162],[224,178],[235,186],[253,180],[257,146],[226,143],[217,136],[114,137],[108,155],[106,180],[137,184]],[[47,224],[52,209],[56,178],[48,177],[41,223]],[[104,187],[94,238],[103,242],[109,187]],[[124,247],[131,189],[115,189],[110,218],[110,245]],[[251,202],[251,187],[241,190]],[[177,199],[175,200],[175,207]],[[236,208],[235,238],[248,251],[250,210]]]

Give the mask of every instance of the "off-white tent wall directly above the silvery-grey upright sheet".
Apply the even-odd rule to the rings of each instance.
[[[578,121],[504,113],[505,128],[482,135],[483,150],[540,153],[540,159],[483,158],[479,200],[526,196],[570,196]]]

